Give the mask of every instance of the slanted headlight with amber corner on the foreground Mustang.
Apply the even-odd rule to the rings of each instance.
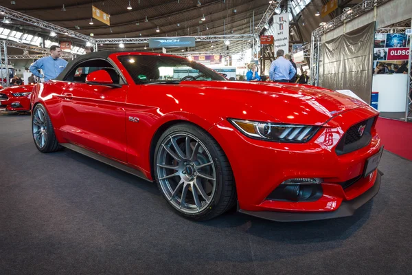
[[[273,142],[307,142],[319,126],[229,119],[244,135]]]

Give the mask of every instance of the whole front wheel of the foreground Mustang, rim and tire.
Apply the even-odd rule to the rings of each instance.
[[[167,129],[157,143],[154,167],[163,197],[183,217],[205,221],[236,202],[229,161],[216,140],[198,126]]]

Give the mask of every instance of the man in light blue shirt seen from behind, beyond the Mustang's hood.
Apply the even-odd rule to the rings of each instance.
[[[292,63],[284,58],[284,50],[277,50],[276,60],[272,62],[269,69],[269,78],[275,82],[288,83],[296,74],[296,69]]]

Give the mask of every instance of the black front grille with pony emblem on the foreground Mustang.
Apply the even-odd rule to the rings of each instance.
[[[371,142],[371,129],[376,118],[377,116],[350,126],[336,146],[336,154],[343,155],[367,146]]]

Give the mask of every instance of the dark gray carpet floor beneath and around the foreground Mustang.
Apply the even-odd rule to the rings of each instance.
[[[43,154],[0,115],[0,274],[411,274],[412,162],[387,151],[353,217],[277,223],[172,212],[155,184],[73,151]]]

